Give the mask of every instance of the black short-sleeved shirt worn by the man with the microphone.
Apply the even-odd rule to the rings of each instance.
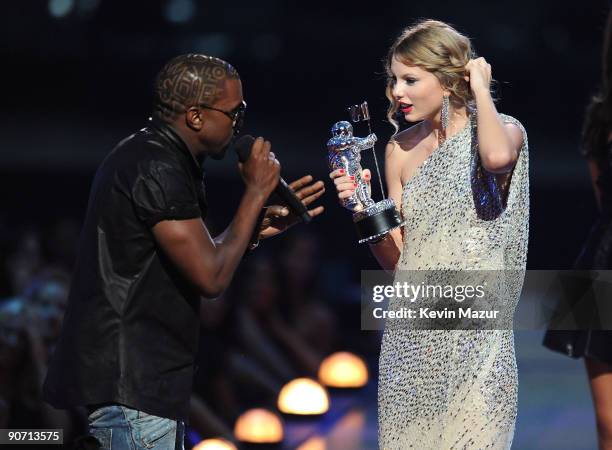
[[[200,297],[151,228],[205,212],[201,167],[169,126],[152,122],[106,157],[44,384],[49,403],[116,402],[187,419]]]

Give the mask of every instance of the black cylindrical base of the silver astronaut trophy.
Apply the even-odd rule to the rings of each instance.
[[[400,214],[391,199],[381,200],[353,214],[360,244],[380,239],[389,231],[403,225]]]

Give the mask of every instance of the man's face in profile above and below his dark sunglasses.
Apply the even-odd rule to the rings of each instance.
[[[242,83],[238,79],[225,80],[225,89],[219,100],[211,105],[221,111],[235,111],[243,102]],[[213,159],[222,159],[234,137],[233,121],[221,111],[203,109],[204,126],[200,131],[206,154]]]

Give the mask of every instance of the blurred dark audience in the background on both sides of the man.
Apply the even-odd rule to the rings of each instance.
[[[86,433],[85,411],[47,405],[41,383],[61,329],[78,224],[1,225],[0,428],[62,428],[70,443]],[[333,296],[318,284],[325,279],[318,238],[294,232],[278,250],[272,243],[247,255],[228,292],[202,299],[189,425],[197,438],[233,439],[240,413],[274,409],[285,383],[316,377],[338,350]]]

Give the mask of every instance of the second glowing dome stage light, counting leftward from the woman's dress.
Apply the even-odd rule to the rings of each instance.
[[[278,394],[278,409],[301,416],[323,414],[329,409],[329,396],[315,380],[296,378],[283,386]]]

